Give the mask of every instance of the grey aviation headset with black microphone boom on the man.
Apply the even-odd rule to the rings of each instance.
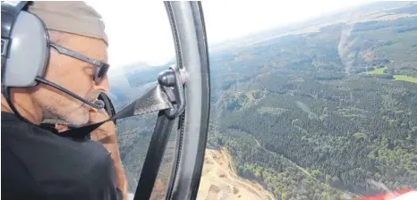
[[[45,23],[35,14],[27,12],[31,3],[19,2],[13,5],[2,2],[2,93],[13,112],[21,120],[27,121],[13,106],[10,88],[35,87],[39,83],[55,87],[91,107],[103,108],[104,102],[101,100],[90,103],[64,87],[43,79],[51,45]]]

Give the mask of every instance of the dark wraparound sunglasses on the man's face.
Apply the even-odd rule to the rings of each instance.
[[[65,54],[65,55],[71,56],[73,58],[76,58],[78,60],[81,60],[83,62],[90,63],[90,64],[94,65],[94,77],[93,77],[93,79],[96,83],[99,83],[99,82],[101,82],[101,80],[104,79],[104,77],[106,76],[106,73],[108,71],[108,68],[110,67],[110,65],[108,63],[104,63],[104,62],[98,61],[96,59],[89,58],[89,57],[87,57],[83,54],[80,54],[80,53],[74,52],[70,49],[64,48],[63,46],[57,46],[53,43],[50,43],[49,46],[52,46],[53,48],[55,48],[56,51],[59,52],[59,54]]]

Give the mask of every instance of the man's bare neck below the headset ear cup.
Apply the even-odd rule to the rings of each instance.
[[[19,114],[25,118],[26,120],[34,123],[39,124],[42,120],[42,113],[38,112],[35,107],[35,104],[33,104],[33,101],[31,100],[31,97],[29,94],[22,92],[20,89],[15,89],[16,91],[11,91],[12,96],[12,104],[16,108],[16,110],[19,112]],[[10,112],[14,113],[12,108],[7,103],[7,100],[2,94],[2,112]],[[16,114],[16,113],[14,113]]]

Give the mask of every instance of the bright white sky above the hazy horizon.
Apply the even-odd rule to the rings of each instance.
[[[364,2],[369,0],[203,0],[202,7],[210,46]],[[112,70],[137,62],[159,65],[174,58],[174,41],[162,1],[89,0],[88,4],[106,23]]]

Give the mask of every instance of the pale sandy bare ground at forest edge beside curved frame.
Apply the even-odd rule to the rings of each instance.
[[[238,177],[231,166],[224,150],[207,149],[197,199],[274,199],[260,184]]]

